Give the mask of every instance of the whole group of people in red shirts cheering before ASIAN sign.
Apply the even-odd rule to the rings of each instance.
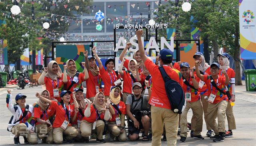
[[[6,103],[13,115],[8,131],[15,135],[14,144],[20,145],[20,136],[29,144],[89,142],[89,136],[102,143],[114,139],[123,142],[127,138],[135,141],[142,132],[142,141],[152,139],[152,146],[161,145],[162,135],[168,146],[175,146],[179,127],[180,141],[186,142],[189,109],[193,113],[190,136],[194,139],[204,139],[203,115],[206,135],[214,142],[232,136],[236,123],[229,102],[235,101],[235,73],[229,67],[230,56],[219,54],[218,63],[208,65],[204,55],[197,52],[193,56],[195,64],[173,63],[172,51],[162,49],[156,62],[152,62],[145,55],[142,34],[142,30],[136,31],[139,50],[133,59],[124,58],[131,46],[126,44],[118,70],[114,70],[113,58],[106,60],[105,70],[93,47],[95,57],[84,51],[85,62],[69,59],[63,65],[63,73],[56,61],[50,61],[38,80],[43,91],[35,93],[38,101],[33,105],[26,104],[27,96],[22,93],[16,95],[13,105],[11,90],[7,90]],[[84,67],[83,72],[77,71],[79,64]],[[160,68],[183,90],[186,106],[181,114],[171,110]]]

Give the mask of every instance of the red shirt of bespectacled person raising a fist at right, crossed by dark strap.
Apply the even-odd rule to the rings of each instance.
[[[226,80],[226,78],[223,76],[218,76],[218,78],[214,80],[217,87],[224,92],[225,92],[225,86],[226,86],[225,80]],[[220,91],[218,91],[215,87],[212,86],[210,76],[204,75],[203,81],[205,82],[205,84],[208,88],[208,91],[209,91],[208,95],[210,96],[211,93],[216,95],[216,97],[213,101],[214,104],[219,103],[220,101],[223,101],[223,100],[228,101],[227,95],[220,93]]]

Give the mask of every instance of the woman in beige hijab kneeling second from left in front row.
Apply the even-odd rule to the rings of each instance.
[[[40,96],[46,99],[50,99],[50,93],[48,90],[42,91]],[[47,102],[39,99],[36,101],[36,103],[34,103],[34,119],[36,119],[36,130],[38,138],[40,140],[46,138],[46,142],[48,144],[53,143],[52,124],[50,123],[50,117],[52,117],[54,114],[55,110],[53,110]]]

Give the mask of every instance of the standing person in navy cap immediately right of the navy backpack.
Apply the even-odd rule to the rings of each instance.
[[[180,115],[180,142],[186,142],[187,137],[187,114],[188,110],[192,109],[193,115],[196,119],[194,130],[194,139],[203,140],[201,135],[203,128],[203,107],[200,100],[200,92],[198,91],[198,82],[200,79],[194,75],[194,70],[190,70],[188,62],[180,64],[180,72],[182,74],[183,86],[185,93],[186,107]]]

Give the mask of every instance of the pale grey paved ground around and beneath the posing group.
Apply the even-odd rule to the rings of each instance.
[[[9,86],[12,88],[12,93],[15,96],[17,93],[22,92],[27,96],[26,103],[32,104],[37,98],[36,92],[42,91],[42,86],[29,88],[28,86],[24,90],[17,90],[17,86]],[[194,140],[190,137],[186,142],[180,142],[179,137],[177,139],[177,146],[256,146],[256,95],[255,92],[246,92],[245,86],[236,87],[236,103],[234,106],[234,115],[236,118],[237,129],[233,131],[234,136],[232,138],[226,138],[224,142],[212,142],[210,138],[205,137],[204,140]],[[6,128],[7,123],[10,120],[11,113],[6,108],[6,88],[0,88],[0,145],[13,145],[13,135],[10,134]],[[188,113],[188,119],[192,117],[192,111]],[[226,127],[228,127],[226,122]],[[202,136],[206,136],[206,125],[203,125]],[[190,136],[190,134],[188,134]],[[20,142],[23,142],[23,138],[20,138]],[[105,144],[96,143],[95,140],[91,140],[89,143],[74,143],[74,144],[62,144],[62,145],[104,145],[104,146],[149,146],[151,142],[142,142],[142,140],[136,142],[107,142]],[[41,144],[50,145],[50,144]],[[167,142],[162,141],[162,146],[166,146]]]

